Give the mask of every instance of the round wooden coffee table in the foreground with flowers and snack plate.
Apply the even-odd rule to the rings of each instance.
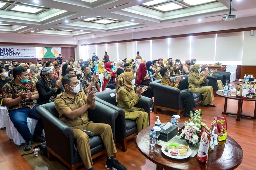
[[[181,123],[179,123],[181,124]],[[156,170],[169,169],[235,169],[243,160],[243,150],[241,146],[231,137],[227,136],[226,141],[220,141],[213,151],[209,151],[208,163],[206,166],[196,160],[196,156],[187,159],[172,159],[164,155],[161,151],[162,146],[157,145],[150,151],[149,132],[153,128],[149,126],[137,136],[136,143],[139,151],[151,162],[156,164]]]

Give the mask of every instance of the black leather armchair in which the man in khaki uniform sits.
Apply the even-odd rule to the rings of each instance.
[[[89,121],[109,124],[112,127],[115,140],[115,120],[118,112],[97,101],[95,102],[96,108],[88,110]],[[60,121],[54,102],[36,107],[36,113],[42,117],[44,122],[48,159],[52,160],[55,156],[71,170],[83,165],[76,148],[73,130]],[[90,148],[92,159],[106,152],[100,136],[90,137]]]

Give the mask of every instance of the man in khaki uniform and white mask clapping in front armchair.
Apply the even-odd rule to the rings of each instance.
[[[88,92],[87,97],[80,91],[78,80],[74,75],[65,75],[61,83],[65,91],[55,100],[55,108],[59,112],[59,118],[74,132],[79,155],[87,169],[92,170],[92,157],[89,145],[89,136],[82,131],[92,131],[94,135],[101,137],[107,150],[108,158],[105,167],[107,169],[126,170],[118,160],[114,159],[116,147],[113,140],[111,127],[108,124],[93,123],[88,121],[88,109],[95,109],[94,91]]]

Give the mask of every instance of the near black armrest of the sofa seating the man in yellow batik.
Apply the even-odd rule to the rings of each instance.
[[[154,105],[180,110],[180,89],[162,85],[158,82],[151,82],[150,86],[154,90]]]

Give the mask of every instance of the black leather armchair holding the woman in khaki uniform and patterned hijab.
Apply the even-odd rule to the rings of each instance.
[[[111,97],[110,94],[115,94]],[[107,105],[118,111],[116,118],[116,141],[121,142],[122,150],[127,151],[127,141],[137,135],[136,121],[126,120],[124,110],[117,107],[116,90],[109,90],[104,92],[95,93],[96,101]],[[150,105],[152,100],[148,97],[141,96],[139,102],[134,107],[140,107],[148,113],[148,122],[150,123]]]

